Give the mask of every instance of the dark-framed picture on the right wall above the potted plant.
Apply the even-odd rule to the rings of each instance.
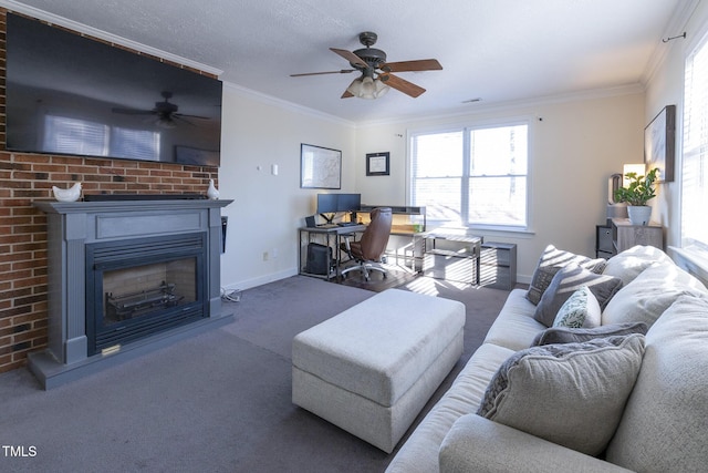
[[[647,171],[659,168],[662,183],[674,181],[676,105],[666,105],[644,128],[644,162]]]

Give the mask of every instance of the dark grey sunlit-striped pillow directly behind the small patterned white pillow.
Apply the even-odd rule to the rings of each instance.
[[[553,276],[553,280],[535,308],[533,318],[546,327],[553,326],[555,315],[563,302],[582,286],[587,286],[597,298],[602,312],[610,299],[622,288],[622,279],[598,275],[576,264],[570,264]]]

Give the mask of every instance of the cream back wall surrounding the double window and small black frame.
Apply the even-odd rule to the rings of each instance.
[[[644,93],[636,89],[546,100],[434,117],[363,126],[356,132],[356,189],[369,204],[406,204],[408,130],[528,116],[531,124],[531,234],[485,233],[518,245],[518,275],[529,281],[548,244],[594,257],[595,225],[606,219],[607,178],[624,163],[643,161]],[[365,175],[365,155],[391,152],[391,175]]]

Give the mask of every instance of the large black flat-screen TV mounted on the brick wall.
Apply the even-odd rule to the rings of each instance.
[[[218,166],[221,81],[7,16],[7,150]]]

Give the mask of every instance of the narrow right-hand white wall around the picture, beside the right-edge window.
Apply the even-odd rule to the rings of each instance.
[[[695,3],[695,2],[691,2]],[[686,39],[663,43],[665,48],[660,63],[653,71],[646,88],[645,125],[666,105],[676,105],[676,162],[675,181],[658,186],[657,198],[650,202],[654,207],[652,218],[665,227],[665,245],[680,246],[680,168],[681,134],[684,114],[684,66],[686,55],[700,41],[708,30],[708,3],[695,6],[695,11],[685,12],[687,20],[680,21],[675,34],[686,31]]]

